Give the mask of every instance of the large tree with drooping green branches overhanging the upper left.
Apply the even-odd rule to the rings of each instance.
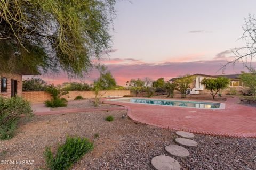
[[[3,0],[0,72],[24,68],[81,76],[110,50],[115,0]]]

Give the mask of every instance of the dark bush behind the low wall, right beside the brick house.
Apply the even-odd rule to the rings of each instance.
[[[45,91],[46,82],[41,78],[31,78],[22,81],[22,91]]]

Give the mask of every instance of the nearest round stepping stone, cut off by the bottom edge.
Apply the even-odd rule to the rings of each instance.
[[[165,155],[152,158],[151,164],[156,170],[180,170],[179,162]]]

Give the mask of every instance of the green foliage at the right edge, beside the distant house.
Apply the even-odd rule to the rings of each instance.
[[[249,92],[252,95],[256,95],[256,70],[251,70],[249,73],[242,71],[239,78],[245,86],[250,88]]]

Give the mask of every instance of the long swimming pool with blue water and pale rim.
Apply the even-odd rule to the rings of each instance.
[[[187,101],[187,100],[165,100],[165,99],[148,99],[148,98],[121,98],[109,99],[110,101],[123,101],[138,104],[178,106],[189,108],[203,109],[223,109],[225,105],[222,103],[205,102],[205,101]]]

